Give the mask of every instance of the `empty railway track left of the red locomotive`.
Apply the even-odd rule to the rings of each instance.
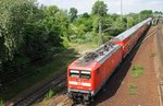
[[[45,97],[45,95],[48,93],[49,90],[51,90],[53,86],[60,85],[60,83],[63,83],[66,81],[66,74],[65,72],[60,73],[57,78],[50,80],[46,84],[43,84],[41,87],[35,90],[27,96],[23,97],[18,102],[14,103],[13,106],[30,106],[34,103],[36,103],[38,99]]]

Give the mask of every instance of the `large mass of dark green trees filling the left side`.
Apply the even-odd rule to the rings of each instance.
[[[64,49],[68,15],[55,5],[38,7],[32,0],[1,0],[0,7],[0,84],[9,83],[9,78],[34,80],[32,74],[38,71],[30,70],[34,63]]]

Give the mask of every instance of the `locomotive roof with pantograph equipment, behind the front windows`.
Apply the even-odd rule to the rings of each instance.
[[[78,70],[92,70],[98,68],[101,63],[103,63],[109,57],[115,52],[120,45],[116,44],[104,44],[100,46],[92,52],[87,54],[86,56],[80,57],[76,61],[74,61],[70,68],[78,69]]]

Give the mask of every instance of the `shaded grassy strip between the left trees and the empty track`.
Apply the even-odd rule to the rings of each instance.
[[[8,87],[0,89],[0,99],[3,102],[15,97],[22,91],[47,78],[51,78],[57,72],[66,71],[66,67],[78,56],[96,48],[95,44],[70,44],[68,49],[55,55],[51,60],[38,62],[30,66],[27,70],[35,71],[32,75],[21,79]]]

